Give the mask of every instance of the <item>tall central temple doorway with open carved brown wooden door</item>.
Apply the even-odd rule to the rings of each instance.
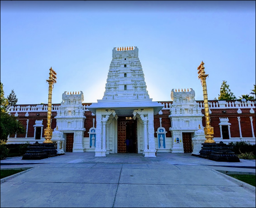
[[[137,120],[131,117],[119,117],[117,130],[117,152],[138,153]]]

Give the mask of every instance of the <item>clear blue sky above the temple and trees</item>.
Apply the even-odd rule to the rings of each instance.
[[[255,1],[1,1],[1,82],[17,104],[48,101],[49,68],[57,73],[53,103],[64,91],[97,102],[114,47],[137,46],[150,98],[193,88],[203,100],[227,81],[235,96],[255,84]]]

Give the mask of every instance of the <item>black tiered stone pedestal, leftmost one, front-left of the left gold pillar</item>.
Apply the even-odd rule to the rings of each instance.
[[[45,145],[38,143],[29,144],[29,150],[23,155],[22,160],[41,160],[48,158],[48,154],[45,151]]]

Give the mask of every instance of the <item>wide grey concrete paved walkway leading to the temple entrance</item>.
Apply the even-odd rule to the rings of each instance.
[[[1,207],[255,207],[255,187],[219,172],[255,174],[255,160],[240,161],[175,153],[16,157],[1,169],[33,168],[1,183]]]

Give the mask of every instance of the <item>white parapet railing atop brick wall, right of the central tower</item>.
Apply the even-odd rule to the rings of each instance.
[[[203,101],[196,101],[201,109],[204,109]],[[170,102],[161,102],[164,104],[162,110],[170,110]],[[211,109],[225,109],[225,108],[255,108],[256,101],[210,101],[209,108]]]

